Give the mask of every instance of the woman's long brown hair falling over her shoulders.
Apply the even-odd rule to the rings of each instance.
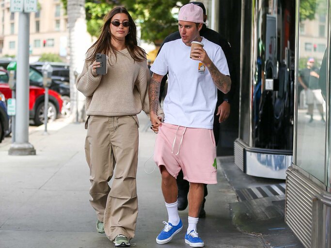
[[[127,47],[127,50],[129,51],[131,57],[135,61],[143,61],[145,59],[145,51],[138,47],[137,43],[137,28],[136,24],[134,23],[132,17],[127,12],[126,8],[124,7],[116,7],[113,8],[105,17],[104,17],[104,24],[101,28],[101,34],[99,38],[95,41],[95,43],[87,50],[87,54],[89,51],[93,51],[90,57],[86,59],[86,61],[93,62],[95,61],[95,56],[97,53],[102,54],[108,54],[110,50],[115,54],[116,56],[116,50],[111,45],[111,33],[110,33],[110,22],[111,18],[115,16],[116,14],[124,13],[129,18],[129,32],[125,37],[125,44]]]

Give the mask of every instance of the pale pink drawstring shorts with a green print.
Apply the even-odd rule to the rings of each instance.
[[[162,123],[158,128],[154,161],[158,166],[164,165],[173,177],[177,178],[182,169],[184,179],[189,182],[217,184],[215,159],[216,146],[212,129],[178,127],[168,123]]]

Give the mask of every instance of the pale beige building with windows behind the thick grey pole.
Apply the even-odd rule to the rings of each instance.
[[[19,13],[10,12],[10,0],[0,1],[0,56],[16,56]],[[66,61],[67,16],[61,0],[39,0],[38,12],[30,14],[30,60],[54,53]]]

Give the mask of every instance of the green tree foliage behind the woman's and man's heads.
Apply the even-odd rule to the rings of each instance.
[[[67,0],[61,0],[66,9]],[[87,31],[92,36],[100,34],[103,17],[119,4],[126,7],[136,23],[140,23],[142,40],[160,45],[170,33],[177,31],[177,19],[172,11],[189,0],[86,0]]]

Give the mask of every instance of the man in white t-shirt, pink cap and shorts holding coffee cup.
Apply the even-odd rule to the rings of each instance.
[[[149,86],[152,129],[158,132],[154,160],[162,176],[162,193],[168,211],[168,222],[159,233],[158,244],[168,243],[183,227],[177,210],[177,184],[180,170],[189,181],[189,227],[185,242],[203,247],[197,233],[204,184],[217,183],[216,144],[213,119],[217,89],[228,93],[231,86],[226,58],[220,46],[199,35],[203,10],[189,3],[178,15],[181,39],[165,43],[154,61]],[[191,50],[191,42],[204,47]],[[191,57],[191,58],[190,58]],[[169,72],[168,92],[164,99],[164,123],[156,115],[160,82]]]

